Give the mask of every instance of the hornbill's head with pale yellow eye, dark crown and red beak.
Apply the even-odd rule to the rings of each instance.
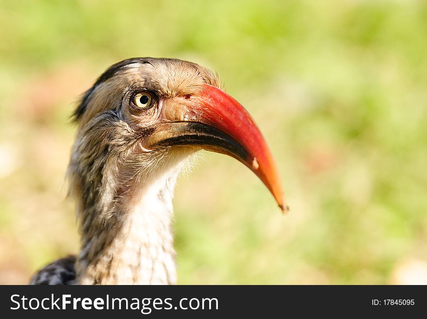
[[[133,58],[111,66],[74,114],[79,130],[69,169],[79,194],[93,201],[100,187],[88,185],[126,192],[132,177],[149,179],[207,150],[245,164],[285,210],[279,172],[260,130],[220,87],[213,72],[176,59]],[[126,183],[120,174],[127,174]]]

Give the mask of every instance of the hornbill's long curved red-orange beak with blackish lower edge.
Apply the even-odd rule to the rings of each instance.
[[[162,101],[161,123],[145,141],[156,145],[196,145],[230,155],[250,168],[274,196],[285,203],[279,170],[263,135],[246,109],[219,88],[204,84],[193,96]]]

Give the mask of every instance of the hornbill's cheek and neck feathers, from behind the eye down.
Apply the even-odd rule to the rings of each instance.
[[[144,153],[111,113],[77,136],[68,169],[82,234],[79,284],[175,284],[174,186],[188,151]]]

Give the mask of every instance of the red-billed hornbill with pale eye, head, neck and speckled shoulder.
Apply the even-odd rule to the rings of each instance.
[[[174,186],[199,150],[245,164],[286,209],[261,132],[219,87],[211,71],[176,59],[128,59],[99,77],[74,113],[67,171],[81,250],[31,284],[175,284]]]

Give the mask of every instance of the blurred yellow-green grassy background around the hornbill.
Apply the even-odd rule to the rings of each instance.
[[[0,3],[1,284],[77,252],[68,116],[133,56],[216,70],[291,207],[204,152],[176,188],[179,284],[427,283],[426,1]]]

